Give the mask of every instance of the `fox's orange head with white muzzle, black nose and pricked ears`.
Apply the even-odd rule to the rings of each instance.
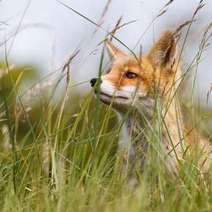
[[[107,42],[113,58],[110,70],[101,76],[100,100],[105,104],[133,106],[152,98],[155,91],[161,96],[172,90],[178,75],[176,42],[172,32],[166,31],[153,45],[148,54],[135,57],[126,54]],[[93,87],[97,82],[91,80]]]

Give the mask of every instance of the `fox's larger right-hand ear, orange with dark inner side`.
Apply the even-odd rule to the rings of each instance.
[[[171,68],[176,56],[176,42],[172,32],[166,31],[154,44],[148,58],[155,67]]]

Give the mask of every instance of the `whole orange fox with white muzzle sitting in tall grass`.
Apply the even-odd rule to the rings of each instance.
[[[112,64],[90,84],[95,93],[99,89],[100,101],[111,105],[122,123],[118,146],[126,152],[126,160],[133,163],[138,158],[143,167],[149,138],[157,136],[169,173],[178,175],[185,153],[194,149],[200,152],[198,170],[207,172],[212,146],[186,128],[177,95],[183,77],[174,32],[165,31],[144,55],[128,54],[109,40],[106,46]]]

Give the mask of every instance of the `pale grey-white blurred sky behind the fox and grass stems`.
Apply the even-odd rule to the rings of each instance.
[[[171,1],[166,12],[157,17],[167,0],[1,0],[0,58],[9,64],[33,65],[42,76],[61,68],[76,50],[79,54],[71,65],[71,77],[84,93],[89,80],[98,72],[102,45],[120,17],[122,24],[116,36],[129,48],[147,52],[160,33],[176,29],[190,20],[199,0]],[[198,51],[202,35],[212,21],[212,1],[197,15],[183,52],[183,67],[189,66]],[[84,15],[77,14],[73,10]],[[91,21],[101,25],[92,24]],[[115,42],[115,41],[114,41]],[[124,49],[119,43],[117,46]],[[6,56],[5,56],[6,55]],[[204,104],[212,82],[212,47],[204,51],[197,73],[197,98]],[[208,105],[212,106],[211,96]]]

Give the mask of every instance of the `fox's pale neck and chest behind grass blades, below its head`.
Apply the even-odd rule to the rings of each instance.
[[[163,99],[160,109],[154,98],[141,102],[127,116],[118,115],[122,122],[120,149],[127,150],[130,158],[135,158],[140,149],[143,163],[150,139],[156,140],[165,153],[165,165],[171,172],[177,172],[178,160],[184,152],[183,123],[177,99]]]

